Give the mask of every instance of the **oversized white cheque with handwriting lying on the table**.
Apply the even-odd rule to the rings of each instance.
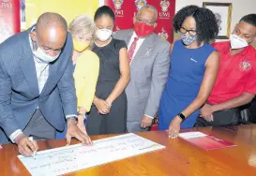
[[[38,152],[36,158],[19,155],[32,175],[60,175],[87,169],[129,156],[144,154],[164,146],[134,134],[94,140],[93,146],[76,144]]]

